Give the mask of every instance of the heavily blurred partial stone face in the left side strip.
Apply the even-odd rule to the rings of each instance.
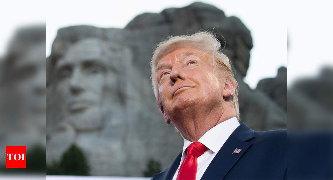
[[[14,90],[22,112],[34,125],[45,130],[46,58],[45,44],[31,47],[13,64]],[[28,113],[28,114],[27,114]]]

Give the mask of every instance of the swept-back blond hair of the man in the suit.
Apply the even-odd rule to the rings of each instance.
[[[166,40],[160,42],[157,45],[150,63],[152,72],[152,86],[157,105],[161,105],[158,82],[155,72],[157,63],[163,56],[170,53],[174,49],[181,47],[194,47],[206,52],[207,54],[210,54],[212,57],[212,64],[215,73],[217,73],[221,78],[227,78],[234,83],[236,90],[232,95],[232,103],[236,111],[237,119],[239,120],[238,83],[231,71],[229,58],[220,50],[221,43],[217,40],[214,34],[207,31],[196,32],[193,35],[169,36]]]

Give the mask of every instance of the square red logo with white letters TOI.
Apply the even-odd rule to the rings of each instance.
[[[26,146],[6,146],[6,168],[26,168]]]

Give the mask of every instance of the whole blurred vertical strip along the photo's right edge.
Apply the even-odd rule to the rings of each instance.
[[[333,179],[332,7],[287,5],[288,179]]]

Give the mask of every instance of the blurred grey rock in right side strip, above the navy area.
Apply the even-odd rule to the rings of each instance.
[[[288,129],[332,130],[333,68],[326,67],[317,77],[302,78],[288,88]]]

